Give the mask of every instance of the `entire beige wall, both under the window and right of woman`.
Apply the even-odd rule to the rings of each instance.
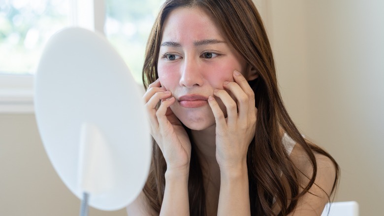
[[[384,1],[258,1],[289,113],[341,166],[336,201],[356,200],[363,216],[382,214]],[[0,175],[0,215],[78,215],[33,114],[0,114]]]

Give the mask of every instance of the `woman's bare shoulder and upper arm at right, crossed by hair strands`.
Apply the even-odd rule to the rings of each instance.
[[[299,199],[294,215],[320,215],[329,197],[336,178],[336,167],[326,155],[314,152],[317,163],[315,183],[310,190]],[[313,175],[313,166],[302,146],[295,144],[290,159],[298,169],[300,181],[305,187]]]

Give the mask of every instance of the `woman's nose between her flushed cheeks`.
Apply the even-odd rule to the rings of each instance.
[[[193,58],[185,58],[184,64],[181,67],[180,86],[193,87],[202,86],[203,77],[197,61]]]

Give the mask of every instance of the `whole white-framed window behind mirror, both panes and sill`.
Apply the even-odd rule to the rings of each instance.
[[[33,112],[33,73],[44,44],[67,26],[105,30],[141,82],[145,44],[162,1],[0,0],[0,112]]]

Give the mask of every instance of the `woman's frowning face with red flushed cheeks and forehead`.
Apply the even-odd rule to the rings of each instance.
[[[215,89],[224,89],[224,81],[233,81],[233,71],[244,72],[246,65],[203,10],[181,7],[166,18],[159,79],[176,99],[172,111],[188,128],[204,130],[215,124],[208,96],[213,96]],[[216,99],[226,114],[223,103]]]

